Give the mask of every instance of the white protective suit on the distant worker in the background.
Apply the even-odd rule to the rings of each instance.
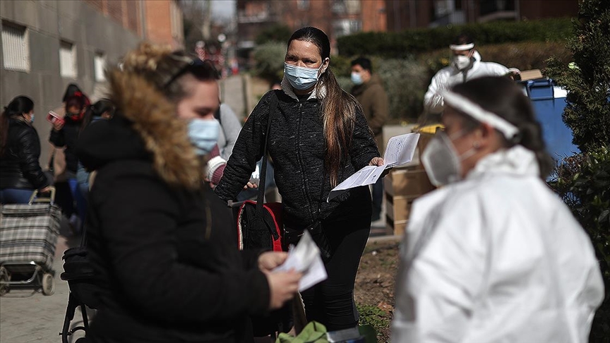
[[[465,71],[459,71],[453,63],[450,66],[442,68],[432,78],[428,91],[424,95],[424,109],[431,113],[437,114],[443,112],[445,104],[443,97],[438,95],[440,90],[450,90],[453,85],[458,83],[465,83],[467,80],[473,78],[480,78],[482,76],[505,76],[509,70],[506,66],[497,64],[494,62],[482,62],[481,55],[479,52],[474,52],[472,55],[474,62],[472,68]]]

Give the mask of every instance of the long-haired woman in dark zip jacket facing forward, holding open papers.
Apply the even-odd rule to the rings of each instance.
[[[358,102],[341,89],[329,63],[330,42],[324,32],[309,27],[292,34],[282,90],[268,92],[256,105],[215,192],[223,200],[234,199],[268,139],[285,228],[298,231],[321,224],[330,243],[328,279],[301,293],[307,319],[340,330],[358,323],[354,280],[371,230],[371,194],[364,186],[327,198],[357,170],[383,165],[383,158]],[[277,97],[276,109],[270,108],[272,97]],[[268,121],[270,135],[265,137]]]

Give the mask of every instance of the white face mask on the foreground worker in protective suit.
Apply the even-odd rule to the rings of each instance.
[[[457,137],[453,139],[461,136],[463,136],[461,132],[457,133]],[[421,163],[426,167],[426,174],[430,182],[437,187],[443,186],[460,181],[462,178],[462,164],[460,162],[474,155],[475,152],[476,150],[472,148],[461,156],[457,155],[451,138],[441,131],[436,133],[436,136],[430,140],[426,150],[421,154]]]

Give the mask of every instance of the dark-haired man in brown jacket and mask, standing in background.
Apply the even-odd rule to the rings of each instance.
[[[375,135],[377,146],[383,146],[383,125],[388,120],[388,95],[383,89],[383,82],[377,74],[373,74],[370,59],[359,57],[352,61],[352,95],[360,103],[366,121]],[[382,149],[379,149],[383,154]],[[373,217],[372,221],[380,219],[381,203],[383,202],[383,179],[373,184]]]

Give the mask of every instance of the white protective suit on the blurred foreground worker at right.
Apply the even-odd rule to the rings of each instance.
[[[517,145],[414,201],[393,342],[587,342],[602,275],[589,237],[538,174]]]

